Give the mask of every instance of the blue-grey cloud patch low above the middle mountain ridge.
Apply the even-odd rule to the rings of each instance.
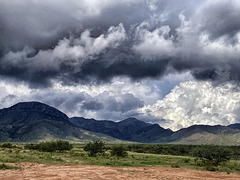
[[[91,112],[95,113],[97,119],[122,120],[139,116],[138,109],[143,106],[144,102],[131,93],[113,95],[112,92],[104,91],[84,102],[80,111],[83,116],[89,116]]]

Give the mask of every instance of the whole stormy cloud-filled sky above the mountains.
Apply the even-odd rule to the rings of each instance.
[[[240,1],[0,0],[0,108],[240,122]]]

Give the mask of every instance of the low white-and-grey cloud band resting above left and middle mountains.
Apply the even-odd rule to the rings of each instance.
[[[112,86],[112,90],[106,87],[93,87],[93,91],[97,93],[92,93],[88,86],[66,87],[59,84],[53,88],[31,90],[26,85],[15,86],[5,82],[0,83],[0,100],[3,102],[1,108],[12,106],[19,101],[40,101],[58,108],[70,117],[121,120],[139,114],[137,109],[144,106],[140,97],[130,92],[116,91],[123,90],[126,86]]]

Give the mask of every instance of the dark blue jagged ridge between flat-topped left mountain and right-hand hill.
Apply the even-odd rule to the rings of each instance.
[[[145,123],[136,118],[128,118],[120,122],[113,122],[74,117],[70,118],[69,121],[91,132],[102,133],[117,139],[135,142],[149,143],[173,133],[169,129],[166,130],[160,127],[158,124]]]

